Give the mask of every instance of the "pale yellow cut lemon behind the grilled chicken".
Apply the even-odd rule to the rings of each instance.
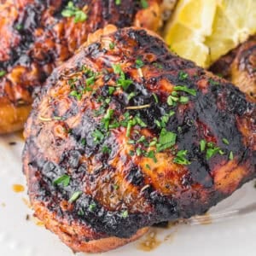
[[[208,67],[256,33],[256,0],[180,0],[164,38],[182,57]]]

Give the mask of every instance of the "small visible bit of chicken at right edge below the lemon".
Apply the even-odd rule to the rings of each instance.
[[[256,36],[224,55],[210,70],[229,79],[256,101]]]

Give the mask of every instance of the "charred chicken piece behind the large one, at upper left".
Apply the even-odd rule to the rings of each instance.
[[[7,0],[0,5],[0,134],[23,128],[53,68],[71,57],[90,32],[107,24],[161,24],[160,0]]]

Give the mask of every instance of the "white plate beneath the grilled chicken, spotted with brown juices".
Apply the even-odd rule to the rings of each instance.
[[[9,145],[11,142],[16,142],[16,145]],[[14,184],[26,187],[21,172],[22,147],[23,141],[18,135],[0,137],[0,255],[73,255],[57,236],[38,225],[37,220],[32,218],[32,211],[24,202],[27,200],[26,191],[15,193],[12,189]],[[253,182],[247,183],[210,212],[241,208],[256,201],[255,198]],[[27,215],[29,220],[26,220]],[[177,224],[166,230],[153,229],[151,236],[154,234],[158,246],[149,252],[142,250],[142,244],[149,241],[146,236],[125,247],[103,253],[103,256],[252,256],[256,254],[256,212],[216,224]]]

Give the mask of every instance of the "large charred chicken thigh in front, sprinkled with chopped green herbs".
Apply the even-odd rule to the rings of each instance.
[[[107,26],[33,104],[23,160],[35,215],[95,253],[202,214],[256,176],[255,114],[154,32]]]

